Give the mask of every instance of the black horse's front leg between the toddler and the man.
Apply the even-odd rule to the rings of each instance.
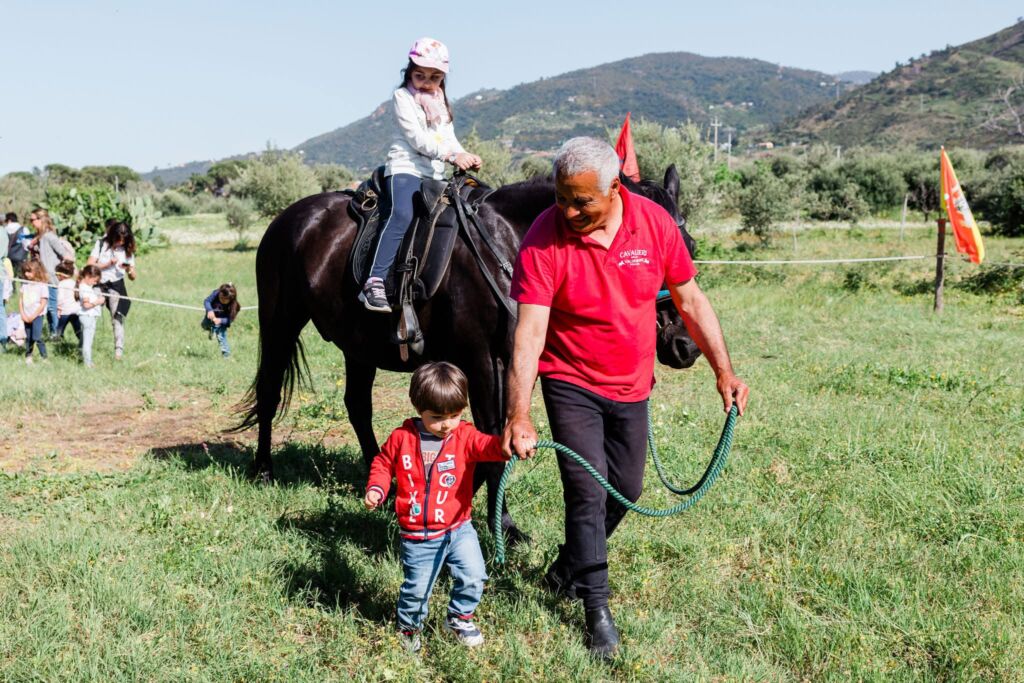
[[[481,362],[466,372],[469,379],[470,403],[473,407],[473,421],[480,431],[501,434],[505,424],[505,367],[501,360],[484,356]],[[501,481],[504,463],[479,463],[473,473],[473,493],[487,484],[487,528],[495,527],[498,508],[498,483]],[[510,546],[528,537],[519,530],[509,514],[508,506],[502,505],[502,528]]]

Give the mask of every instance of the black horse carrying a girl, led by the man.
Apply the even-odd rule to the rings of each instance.
[[[664,206],[680,223],[676,203],[679,176],[674,166],[666,172],[664,186],[651,181],[624,182]],[[285,413],[296,382],[307,375],[299,334],[310,321],[345,357],[345,408],[368,467],[379,452],[371,421],[378,368],[408,373],[428,360],[447,360],[469,378],[476,426],[489,433],[500,433],[504,426],[504,377],[515,321],[488,289],[481,266],[465,243],[466,233],[460,234],[436,294],[417,309],[423,352],[402,360],[398,346],[389,341],[395,327],[393,316],[368,311],[356,299],[359,288],[349,264],[356,223],[348,212],[349,201],[344,193],[324,193],[296,202],[270,223],[256,254],[259,367],[243,403],[245,417],[239,429],[259,426],[253,474],[263,480],[273,476],[273,420]],[[554,182],[535,179],[495,190],[479,205],[477,215],[499,251],[514,261],[530,223],[553,203]],[[692,253],[692,239],[681,223],[680,229]],[[510,280],[498,259],[479,245],[477,251],[486,261],[483,267],[507,292]],[[699,351],[671,299],[658,304],[657,326],[658,359],[673,368],[693,365]],[[476,486],[487,483],[488,526],[496,512],[501,471],[501,464],[477,467]],[[511,538],[518,536],[507,513],[502,522]]]

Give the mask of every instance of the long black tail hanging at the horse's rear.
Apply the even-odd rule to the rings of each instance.
[[[256,377],[236,407],[238,432],[280,419],[288,412],[296,385],[309,382],[309,366],[300,333],[309,313],[296,290],[295,249],[291,231],[280,216],[267,227],[256,252],[259,296],[259,349]]]

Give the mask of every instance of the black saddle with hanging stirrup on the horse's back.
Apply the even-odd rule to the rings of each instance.
[[[358,287],[370,274],[373,254],[380,237],[380,198],[384,187],[384,167],[378,168],[358,188],[350,190],[349,212],[358,224],[349,257],[350,270]],[[468,236],[469,223],[481,233],[488,248],[495,249],[488,234],[475,220],[476,206],[490,189],[468,176],[452,180],[423,178],[414,197],[413,222],[402,239],[391,271],[384,281],[388,302],[397,311],[398,325],[391,341],[410,345],[417,353],[423,348],[423,336],[416,317],[415,304],[429,300],[440,287],[452,261],[460,226]],[[468,238],[474,256],[478,251]],[[503,268],[508,265],[504,260]],[[482,267],[482,263],[481,263]],[[511,270],[511,266],[508,267]],[[490,279],[490,275],[485,273]]]

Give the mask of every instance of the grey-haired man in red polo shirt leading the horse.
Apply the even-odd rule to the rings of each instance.
[[[722,329],[694,275],[676,222],[618,181],[609,144],[567,141],[554,161],[555,206],[523,239],[512,279],[519,303],[509,372],[504,445],[531,457],[529,418],[538,375],[552,436],[586,458],[631,501],[640,497],[647,451],[647,397],[654,383],[655,303],[666,283],[690,336],[715,371],[725,410],[746,405]],[[607,538],[626,514],[574,461],[558,455],[565,545],[545,577],[579,597],[587,642],[610,657],[618,632],[608,610]]]

